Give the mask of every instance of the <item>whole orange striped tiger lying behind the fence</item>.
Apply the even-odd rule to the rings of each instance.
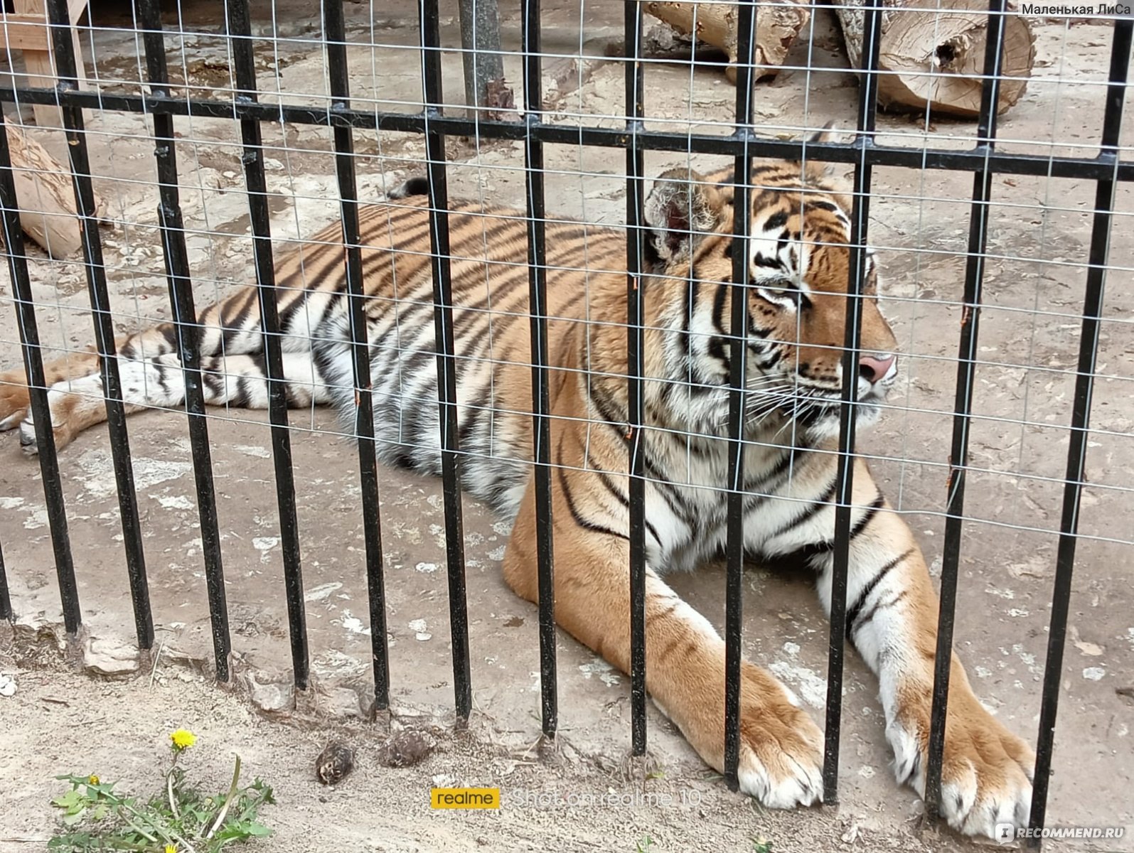
[[[657,708],[706,765],[725,769],[725,642],[667,584],[726,542],[733,253],[747,246],[743,411],[744,548],[756,563],[814,573],[830,614],[843,383],[852,261],[846,187],[813,163],[752,164],[751,230],[734,237],[736,179],[722,169],[659,175],[643,204],[644,415],[631,424],[627,229],[545,221],[555,616],[623,672],[631,667],[629,445],[645,492],[645,682]],[[359,208],[365,333],[376,454],[440,474],[429,183],[415,177]],[[451,335],[459,480],[513,523],[503,577],[539,601],[528,314],[527,219],[481,201],[450,201]],[[875,421],[898,374],[895,335],[879,307],[879,269],[864,251],[857,423]],[[329,405],[355,431],[357,413],[342,231],[331,225],[278,259],[282,369],[291,406]],[[211,405],[268,406],[255,287],[200,314]],[[128,411],[185,400],[177,329],[161,323],[117,341]],[[105,420],[99,357],[45,366],[51,429],[64,447]],[[0,374],[0,429],[36,439],[22,370]],[[899,784],[925,795],[938,600],[925,558],[865,461],[853,461],[846,636],[877,674]],[[1034,754],[978,699],[954,653],[942,814],[993,837],[1026,825]],[[793,691],[743,661],[739,789],[772,808],[823,800],[823,735]]]

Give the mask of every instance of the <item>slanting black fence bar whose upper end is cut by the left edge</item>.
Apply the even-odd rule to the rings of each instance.
[[[82,615],[78,588],[75,584],[75,563],[71,558],[70,532],[67,527],[67,508],[64,488],[59,481],[59,459],[56,456],[56,437],[51,432],[51,409],[48,406],[48,387],[43,375],[43,355],[40,352],[40,331],[32,302],[32,280],[27,275],[27,254],[24,251],[24,230],[19,223],[19,200],[11,174],[11,154],[8,150],[8,128],[0,110],[0,209],[3,227],[3,253],[8,261],[16,302],[16,323],[19,327],[24,372],[35,420],[35,446],[43,479],[43,502],[48,508],[51,548],[56,557],[56,577],[59,582],[59,602],[64,611],[64,628],[68,634],[78,631]]]

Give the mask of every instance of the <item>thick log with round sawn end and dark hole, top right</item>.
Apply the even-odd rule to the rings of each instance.
[[[981,0],[881,0],[878,101],[885,109],[975,116],[981,107],[988,6]],[[833,0],[853,68],[862,67],[865,11],[861,0]],[[928,8],[933,7],[937,8]],[[1027,87],[1035,40],[1027,19],[1005,17],[1004,78],[997,112]]]

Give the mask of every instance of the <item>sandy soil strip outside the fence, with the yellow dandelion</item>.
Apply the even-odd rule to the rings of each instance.
[[[661,766],[646,778],[641,769],[579,752],[569,736],[555,753],[541,753],[535,743],[499,744],[479,723],[464,733],[426,717],[336,725],[293,715],[281,723],[185,668],[160,666],[152,682],[109,682],[44,660],[42,648],[35,656],[34,664],[22,658],[28,667],[6,668],[15,672],[18,690],[0,699],[0,851],[43,848],[56,830],[48,802],[66,787],[56,775],[96,772],[120,779],[125,791],[152,793],[168,760],[168,734],[178,727],[198,736],[183,763],[191,780],[220,789],[239,754],[246,780],[260,776],[273,786],[278,802],[261,814],[276,834],[249,850],[720,853],[750,851],[756,839],[777,851],[954,847],[915,820],[875,830],[865,828],[865,816],[764,811],[703,769],[687,775]],[[433,752],[414,767],[384,766],[384,736],[407,729],[435,738]],[[356,750],[354,772],[333,788],[314,775],[315,757],[331,740]],[[499,787],[502,808],[434,811],[434,785]],[[598,797],[606,800],[599,804]]]

